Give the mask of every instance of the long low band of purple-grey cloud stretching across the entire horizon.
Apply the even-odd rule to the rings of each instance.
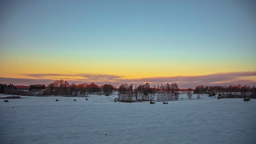
[[[29,85],[33,83],[51,83],[56,79],[68,80],[69,83],[95,82],[99,85],[110,83],[119,86],[121,83],[142,84],[145,82],[158,85],[160,83],[178,83],[181,88],[196,87],[197,85],[250,85],[256,86],[256,71],[243,71],[232,73],[216,73],[198,76],[169,76],[169,77],[144,77],[141,79],[124,79],[119,75],[101,74],[23,74],[31,79],[15,79],[0,77],[2,83],[14,83],[15,85]],[[50,77],[50,78],[49,78]],[[53,78],[54,77],[54,78]],[[73,77],[73,78],[72,78]],[[36,78],[36,79],[35,79]]]

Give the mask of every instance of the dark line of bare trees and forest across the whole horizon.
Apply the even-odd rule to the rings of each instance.
[[[87,97],[88,94],[105,94],[110,95],[114,91],[118,91],[119,101],[144,101],[144,100],[158,100],[158,101],[170,101],[178,100],[178,95],[181,91],[193,91],[196,94],[209,94],[213,96],[215,94],[221,95],[240,95],[241,97],[256,98],[256,88],[253,86],[242,85],[229,85],[229,86],[197,86],[195,89],[179,89],[177,83],[166,83],[161,85],[150,86],[149,83],[144,85],[128,85],[124,83],[118,88],[105,84],[98,86],[95,83],[81,83],[69,84],[64,80],[56,80],[49,85],[37,84],[30,85],[27,92],[24,88],[19,89],[13,84],[6,85],[0,83],[0,93],[4,94],[16,94],[16,95],[36,95],[36,96],[68,96],[68,97]]]

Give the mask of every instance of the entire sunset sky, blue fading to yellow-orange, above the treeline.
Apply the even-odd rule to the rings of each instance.
[[[255,1],[1,1],[0,83],[256,86]]]

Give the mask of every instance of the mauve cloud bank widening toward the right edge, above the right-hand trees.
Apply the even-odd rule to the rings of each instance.
[[[199,76],[170,76],[170,77],[147,77],[142,79],[126,79],[132,83],[150,82],[150,83],[166,83],[176,82],[181,87],[195,87],[197,85],[230,85],[242,84],[256,86],[256,71],[234,72],[234,73],[217,73]]]

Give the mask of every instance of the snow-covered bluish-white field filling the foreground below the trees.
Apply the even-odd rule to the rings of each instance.
[[[5,95],[2,95],[5,96]],[[1,97],[1,95],[0,95]],[[164,105],[114,103],[117,95],[0,99],[0,143],[255,143],[256,100]],[[193,95],[196,98],[196,95]],[[60,101],[55,101],[59,99]]]

